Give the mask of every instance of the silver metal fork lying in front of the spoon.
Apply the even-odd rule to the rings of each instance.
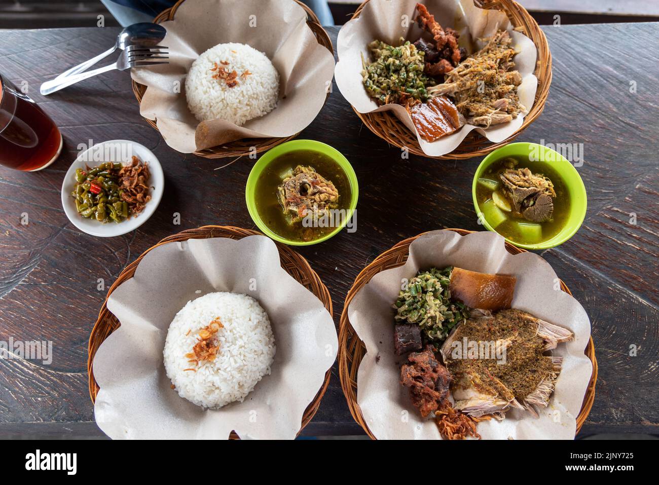
[[[122,51],[119,55],[119,59],[114,64],[109,66],[101,67],[100,69],[94,69],[94,71],[81,72],[80,74],[73,74],[72,76],[67,76],[65,78],[55,78],[49,81],[46,81],[42,84],[40,92],[43,96],[59,91],[71,84],[76,84],[84,79],[96,76],[97,74],[102,74],[103,72],[114,71],[118,69],[119,71],[125,71],[131,67],[149,67],[156,66],[159,64],[168,64],[169,61],[159,61],[159,59],[169,59],[167,47],[142,47],[140,45],[129,45],[125,51]]]

